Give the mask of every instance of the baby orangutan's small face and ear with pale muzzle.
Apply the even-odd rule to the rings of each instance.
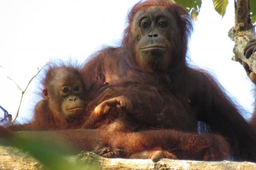
[[[44,89],[49,107],[55,113],[70,118],[83,113],[84,87],[81,77],[71,68],[56,68]]]

